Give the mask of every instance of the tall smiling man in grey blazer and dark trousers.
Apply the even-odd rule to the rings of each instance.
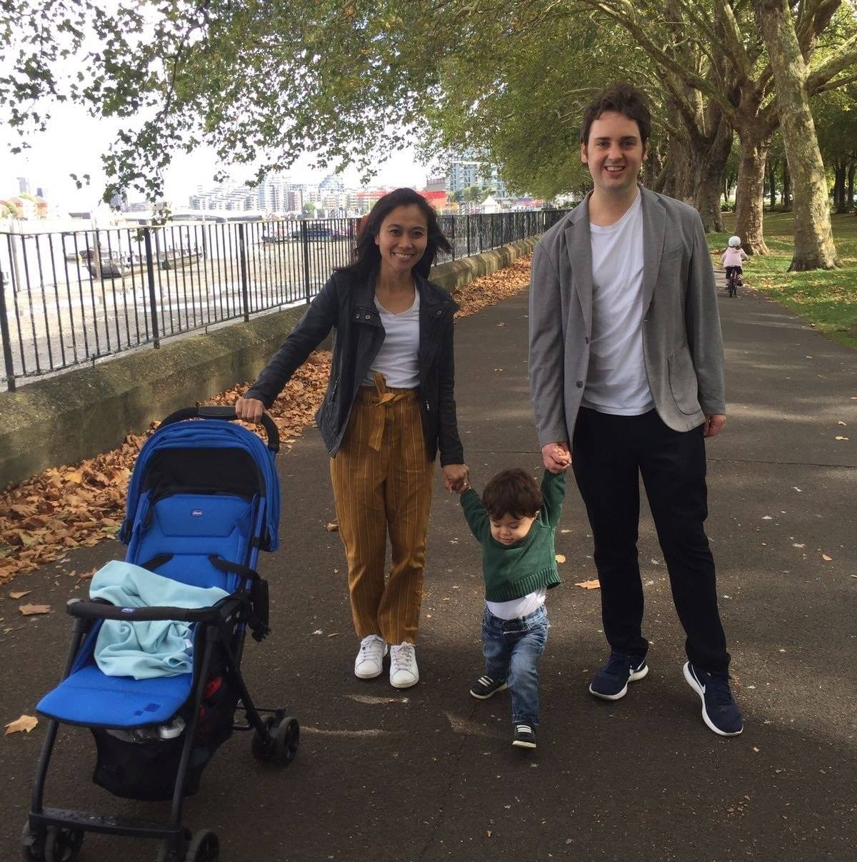
[[[532,260],[530,377],[542,457],[571,461],[601,581],[607,700],[648,672],[637,559],[646,487],[687,634],[684,677],[716,734],[740,734],[717,610],[703,438],[726,422],[714,272],[695,209],[637,183],[652,128],[628,84],[583,112],[580,155],[594,189],[545,233]]]

